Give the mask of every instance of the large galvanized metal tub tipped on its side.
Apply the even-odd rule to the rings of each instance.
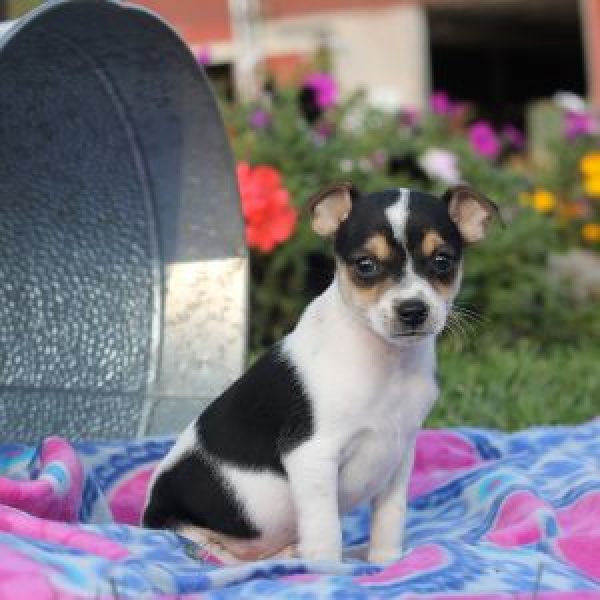
[[[0,37],[0,439],[180,430],[243,368],[247,254],[204,74],[160,18]]]

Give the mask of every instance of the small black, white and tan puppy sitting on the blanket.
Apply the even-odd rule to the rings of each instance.
[[[368,559],[397,558],[415,438],[438,395],[435,339],[463,247],[495,212],[466,186],[441,199],[349,184],[317,194],[312,227],[334,236],[333,282],[182,433],[154,474],[143,524],[226,563],[295,552],[338,561],[340,512],[368,501]]]

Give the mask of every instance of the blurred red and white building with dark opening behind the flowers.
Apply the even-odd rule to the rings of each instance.
[[[4,18],[35,0],[0,0]],[[557,87],[600,104],[600,0],[139,0],[172,23],[229,93],[295,83],[315,55],[342,91],[423,108],[432,89],[522,122]]]

